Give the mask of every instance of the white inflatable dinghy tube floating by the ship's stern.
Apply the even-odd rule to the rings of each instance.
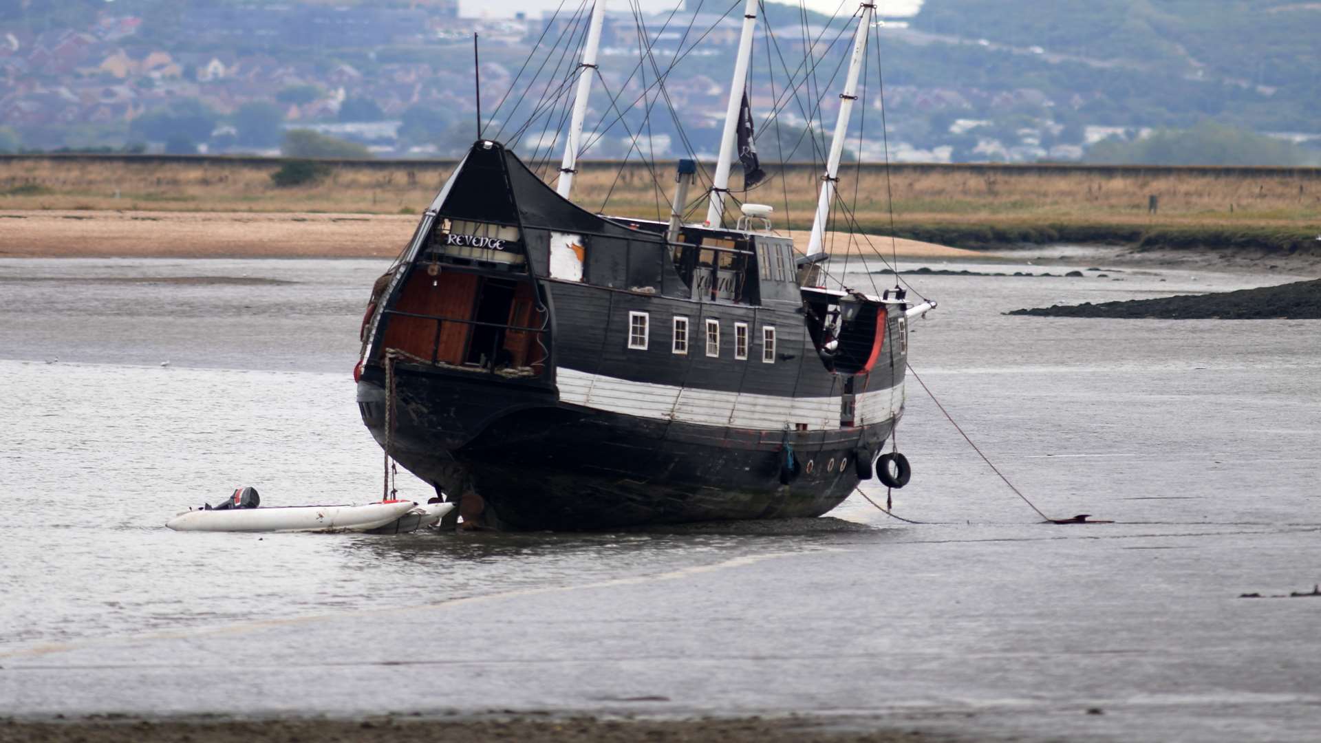
[[[448,513],[453,504],[436,516]],[[190,509],[165,522],[176,531],[370,531],[419,508],[413,501],[362,505],[296,505],[276,508]],[[413,528],[416,529],[416,526]]]

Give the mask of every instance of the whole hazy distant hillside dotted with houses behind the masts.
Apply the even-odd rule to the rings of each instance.
[[[489,136],[526,132],[520,152],[544,159],[560,147],[572,90],[561,78],[575,69],[588,8],[483,21],[454,17],[454,0],[0,0],[0,149],[273,153],[284,130],[312,128],[384,157],[453,155],[473,135],[480,30]],[[609,131],[592,136],[588,155],[645,145],[657,159],[712,159],[738,4],[690,0],[642,19],[626,3],[610,8],[588,118]],[[840,8],[832,19],[770,1],[758,19],[749,91],[768,161],[826,148],[857,5]],[[654,40],[651,63],[638,63],[639,36]],[[925,0],[877,38],[849,132],[863,161],[1305,165],[1321,156],[1317,1]],[[662,70],[667,95],[639,95]],[[1244,130],[1214,137],[1232,152],[1141,145],[1152,131],[1177,137],[1205,122]],[[1272,147],[1254,132],[1292,143]],[[1174,151],[1180,160],[1162,155]]]

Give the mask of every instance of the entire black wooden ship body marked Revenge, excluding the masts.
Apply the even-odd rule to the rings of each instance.
[[[373,290],[363,422],[465,524],[835,508],[902,415],[904,297],[826,288],[768,231],[664,227],[477,143]]]

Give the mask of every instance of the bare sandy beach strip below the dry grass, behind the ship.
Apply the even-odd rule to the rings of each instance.
[[[7,258],[391,258],[417,226],[411,214],[246,212],[0,212]],[[801,246],[806,233],[794,233]],[[890,255],[890,238],[871,238]],[[847,237],[827,241],[836,253]],[[856,243],[855,243],[856,245]],[[902,258],[978,258],[959,250],[896,239]],[[853,247],[853,255],[857,255]],[[863,243],[863,254],[871,247]]]

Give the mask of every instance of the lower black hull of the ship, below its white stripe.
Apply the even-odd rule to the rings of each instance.
[[[528,391],[491,399],[493,390],[429,374],[400,374],[396,394],[407,412],[395,459],[452,500],[477,493],[480,522],[511,530],[820,516],[853,492],[856,460],[875,455],[892,426],[786,432],[651,420],[552,397],[538,405]],[[371,399],[383,390],[363,379],[359,401]],[[509,406],[490,416],[501,402]],[[384,443],[383,420],[367,422]]]

